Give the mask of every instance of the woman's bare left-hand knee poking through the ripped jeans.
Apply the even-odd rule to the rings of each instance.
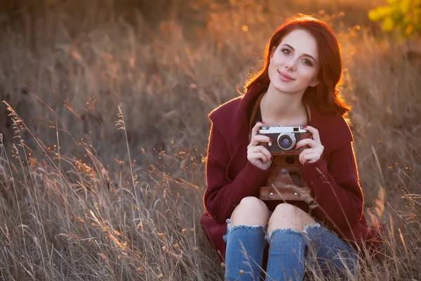
[[[244,197],[234,209],[231,221],[232,226],[245,225],[267,225],[270,211],[262,200],[257,197]]]

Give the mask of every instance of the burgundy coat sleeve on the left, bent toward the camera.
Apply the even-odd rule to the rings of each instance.
[[[225,223],[239,202],[254,196],[258,188],[267,181],[271,169],[263,170],[246,162],[234,180],[227,179],[230,157],[227,143],[220,131],[212,124],[206,160],[206,191],[203,202],[206,211],[219,224]]]

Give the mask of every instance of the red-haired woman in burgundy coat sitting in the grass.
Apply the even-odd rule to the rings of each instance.
[[[265,58],[246,94],[209,115],[203,231],[225,262],[226,280],[259,280],[267,244],[267,280],[302,280],[306,259],[326,275],[352,272],[358,249],[375,235],[363,215],[352,133],[343,118],[349,107],[336,91],[338,41],[324,22],[301,16],[276,30]],[[273,169],[263,145],[273,140],[258,133],[263,124],[312,133],[296,145],[311,204],[258,199]]]

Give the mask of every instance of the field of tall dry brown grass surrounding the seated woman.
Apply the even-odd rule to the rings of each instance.
[[[383,38],[370,1],[153,2],[0,17],[2,280],[220,280],[198,223],[206,113],[303,11],[340,38],[366,206],[389,226],[349,279],[420,280],[420,43]]]

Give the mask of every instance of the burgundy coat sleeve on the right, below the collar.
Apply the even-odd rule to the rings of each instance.
[[[312,214],[329,228],[349,233],[363,215],[363,192],[352,143],[331,152],[328,163],[323,158],[306,163],[302,174],[314,192]]]

